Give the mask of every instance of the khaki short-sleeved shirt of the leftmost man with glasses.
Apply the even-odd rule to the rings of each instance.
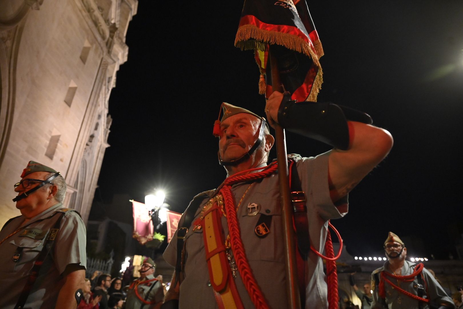
[[[55,226],[63,204],[58,203],[28,221],[24,229],[0,244],[0,308],[13,309],[23,290],[29,273],[38,254],[42,251],[44,240]],[[22,226],[24,216],[19,216],[0,231],[0,240]],[[61,274],[69,264],[86,267],[86,229],[80,215],[74,210],[64,213],[61,226],[56,233],[50,253],[40,268],[39,276],[32,287],[24,308],[54,308],[58,293],[63,286]],[[13,255],[20,252],[17,262]]]

